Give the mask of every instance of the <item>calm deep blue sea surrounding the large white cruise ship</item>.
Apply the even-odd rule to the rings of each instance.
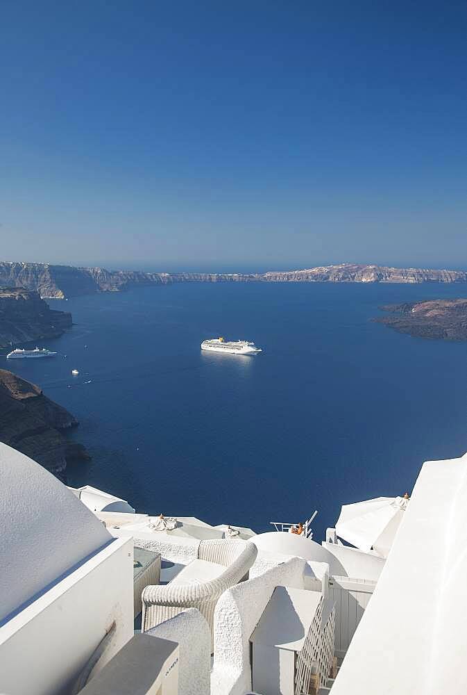
[[[466,449],[466,345],[369,321],[380,304],[463,292],[187,284],[79,297],[51,302],[76,323],[46,345],[67,358],[15,370],[80,420],[72,436],[92,461],[69,467],[70,484],[256,530],[316,508],[321,538],[341,503],[410,491],[425,459]],[[218,335],[264,352],[200,351]]]

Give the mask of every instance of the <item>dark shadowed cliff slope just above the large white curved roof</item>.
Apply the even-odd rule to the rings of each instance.
[[[38,386],[0,369],[0,441],[63,479],[67,461],[90,458],[83,445],[62,434],[76,425],[76,418]]]

